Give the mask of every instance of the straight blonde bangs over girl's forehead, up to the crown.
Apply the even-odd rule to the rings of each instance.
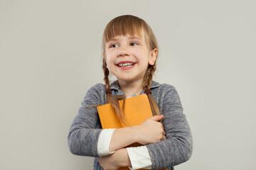
[[[142,37],[143,21],[134,16],[122,16],[114,18],[107,24],[103,33],[103,43],[118,35],[139,35]]]

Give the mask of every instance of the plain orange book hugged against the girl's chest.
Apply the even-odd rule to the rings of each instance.
[[[124,115],[127,119],[127,125],[122,123],[117,113],[115,113],[114,108],[110,103],[97,107],[97,111],[100,116],[100,123],[102,129],[108,128],[124,128],[131,125],[140,125],[147,118],[153,116],[151,107],[149,104],[149,98],[146,94],[141,94],[139,96],[134,96],[125,99],[125,104],[123,100],[119,101],[119,106],[122,108],[124,106]],[[138,147],[142,146],[139,143],[134,143],[127,147]],[[129,170],[128,167],[121,167],[118,170]],[[142,170],[142,169],[140,169]]]

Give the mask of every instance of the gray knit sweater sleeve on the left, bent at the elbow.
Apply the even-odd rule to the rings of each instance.
[[[81,107],[76,115],[68,133],[68,147],[73,154],[99,157],[97,153],[97,141],[102,129],[97,127],[99,116],[96,107],[100,105],[100,84],[92,86],[87,91]]]

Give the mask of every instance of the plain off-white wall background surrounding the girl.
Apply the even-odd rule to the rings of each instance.
[[[143,18],[159,42],[154,80],[176,87],[193,155],[176,169],[256,169],[255,1],[0,0],[0,169],[92,169],[68,131],[102,82],[102,33]]]

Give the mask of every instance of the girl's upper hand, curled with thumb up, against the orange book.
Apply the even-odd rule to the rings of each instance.
[[[155,143],[166,139],[164,127],[158,121],[164,118],[164,115],[154,115],[146,119],[142,124],[136,126],[137,139],[142,145]]]

